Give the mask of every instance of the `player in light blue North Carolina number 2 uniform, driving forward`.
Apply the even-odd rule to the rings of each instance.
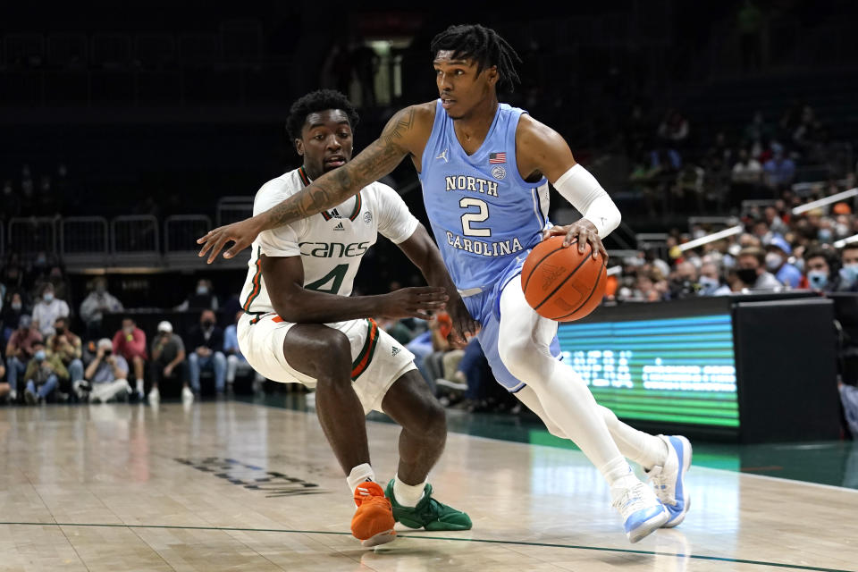
[[[517,81],[518,56],[492,29],[452,26],[432,42],[439,99],[395,114],[382,135],[349,164],[319,177],[265,213],[206,234],[200,256],[225,257],[257,234],[341,204],[391,172],[408,156],[423,183],[426,213],[444,264],[470,315],[452,315],[459,333],[482,328],[479,341],[492,373],[540,416],[551,433],[568,438],[610,484],[612,505],[637,542],[686,516],[684,484],[691,445],[681,436],[653,436],[621,423],[599,406],[584,380],[559,361],[557,323],[537,315],[522,292],[521,266],[540,240],[564,235],[597,257],[601,238],[620,214],[598,181],[576,164],[566,141],[520,109],[501,104],[496,87]],[[551,226],[548,183],[583,217]],[[631,471],[639,463],[654,492]]]

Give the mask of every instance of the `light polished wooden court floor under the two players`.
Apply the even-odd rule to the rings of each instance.
[[[369,422],[379,478],[395,425]],[[366,550],[312,413],[235,401],[0,408],[0,570],[858,570],[858,491],[693,467],[686,522],[630,544],[573,450],[450,433],[471,531]]]

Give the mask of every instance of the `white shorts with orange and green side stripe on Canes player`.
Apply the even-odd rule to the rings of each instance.
[[[316,380],[289,365],[283,355],[286,333],[295,325],[274,313],[242,315],[237,327],[239,348],[248,364],[266,378],[281,383],[315,387]],[[393,382],[416,369],[414,354],[384,332],[374,320],[349,320],[324,324],[346,334],[351,344],[352,387],[364,413],[382,410],[384,395]]]

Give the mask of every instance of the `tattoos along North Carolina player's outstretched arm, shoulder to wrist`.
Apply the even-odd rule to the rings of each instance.
[[[408,155],[402,139],[413,122],[414,109],[411,107],[394,115],[384,127],[381,137],[352,161],[325,173],[303,191],[266,211],[264,229],[294,223],[337,206],[369,183],[389,174]]]

